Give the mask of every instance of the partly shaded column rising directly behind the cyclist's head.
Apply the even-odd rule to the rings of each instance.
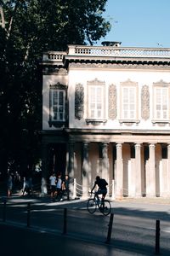
[[[109,182],[108,144],[102,143],[102,177]]]

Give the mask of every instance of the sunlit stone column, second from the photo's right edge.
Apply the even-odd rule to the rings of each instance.
[[[146,170],[146,196],[156,196],[156,156],[155,156],[155,144],[150,144],[150,165]]]

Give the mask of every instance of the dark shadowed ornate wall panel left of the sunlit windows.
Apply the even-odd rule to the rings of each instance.
[[[75,89],[75,118],[80,120],[84,115],[84,87],[76,84]]]

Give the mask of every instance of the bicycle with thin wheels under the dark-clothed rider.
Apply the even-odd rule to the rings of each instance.
[[[94,213],[98,207],[99,212],[103,213],[105,216],[109,215],[111,213],[111,202],[105,199],[104,201],[98,199],[97,195],[94,192],[90,194],[94,194],[94,198],[88,199],[88,212]]]

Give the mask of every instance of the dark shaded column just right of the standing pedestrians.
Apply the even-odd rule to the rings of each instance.
[[[74,143],[69,142],[69,166],[68,166],[68,175],[69,175],[69,198],[73,196],[74,189]]]

